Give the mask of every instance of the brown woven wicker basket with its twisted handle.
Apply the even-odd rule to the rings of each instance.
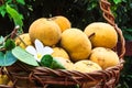
[[[64,69],[54,70],[47,67],[31,68],[25,64],[16,63],[7,67],[8,72],[2,72],[13,81],[13,86],[9,87],[2,85],[0,88],[54,88],[55,86],[56,88],[59,88],[58,85],[63,86],[63,88],[76,88],[75,85],[79,85],[80,88],[88,88],[88,86],[94,84],[94,81],[96,82],[94,88],[114,88],[119,81],[120,70],[123,68],[125,41],[121,30],[114,23],[114,16],[111,13],[108,0],[100,0],[99,2],[103,12],[103,18],[109,24],[114,26],[119,34],[119,42],[121,43],[121,52],[119,54],[120,64],[105,70],[79,73],[76,70]]]

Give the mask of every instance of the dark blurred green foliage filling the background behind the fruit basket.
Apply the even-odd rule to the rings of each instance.
[[[6,6],[15,10],[16,16],[23,22],[22,29],[28,32],[30,24],[38,18],[65,15],[72,22],[73,28],[84,30],[89,23],[106,21],[99,7],[99,0],[0,0],[0,14],[2,18],[14,20]],[[132,0],[108,0],[111,3],[111,11],[116,16],[116,23],[122,30],[124,38],[132,41]],[[3,7],[4,6],[4,7]],[[3,24],[4,25],[4,24]],[[10,28],[12,29],[12,28]],[[121,72],[118,88],[132,87],[132,57],[124,57],[125,64]]]

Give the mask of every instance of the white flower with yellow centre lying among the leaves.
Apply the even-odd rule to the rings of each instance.
[[[54,52],[50,46],[44,46],[38,40],[35,40],[35,48],[30,45],[25,50],[32,54],[37,62],[41,62],[44,55],[52,54]]]

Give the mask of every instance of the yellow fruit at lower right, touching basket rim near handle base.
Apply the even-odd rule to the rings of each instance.
[[[102,69],[119,64],[119,56],[116,52],[106,47],[96,47],[91,51],[90,61],[99,64]]]

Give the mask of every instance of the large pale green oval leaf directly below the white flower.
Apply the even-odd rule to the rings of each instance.
[[[38,63],[35,61],[34,56],[28,53],[25,50],[16,46],[12,50],[12,54],[21,62],[32,65],[38,66]]]

